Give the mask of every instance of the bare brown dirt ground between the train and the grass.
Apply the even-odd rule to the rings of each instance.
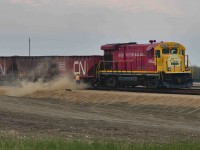
[[[0,87],[1,136],[156,144],[200,139],[199,96],[69,88],[8,94],[10,90]]]

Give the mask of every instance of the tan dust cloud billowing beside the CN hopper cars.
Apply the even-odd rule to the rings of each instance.
[[[6,96],[26,96],[38,91],[55,91],[55,90],[76,90],[85,89],[87,87],[86,84],[81,83],[76,86],[74,79],[70,79],[67,77],[58,77],[48,82],[44,82],[43,79],[39,79],[37,82],[31,81],[20,81],[17,86],[7,86],[4,87],[3,91],[1,90],[1,94]]]

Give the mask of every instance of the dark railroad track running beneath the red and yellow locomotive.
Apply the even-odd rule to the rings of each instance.
[[[145,87],[136,87],[136,88],[92,87],[92,88],[88,88],[88,90],[126,91],[126,92],[181,94],[181,95],[200,95],[200,89],[147,89]]]

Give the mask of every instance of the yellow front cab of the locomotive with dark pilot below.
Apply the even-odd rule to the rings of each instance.
[[[154,62],[160,73],[161,85],[186,88],[192,85],[189,59],[185,47],[175,42],[162,42],[154,47]]]

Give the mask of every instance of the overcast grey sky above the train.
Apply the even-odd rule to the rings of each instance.
[[[0,0],[1,56],[103,54],[106,43],[176,41],[200,66],[199,0]]]

